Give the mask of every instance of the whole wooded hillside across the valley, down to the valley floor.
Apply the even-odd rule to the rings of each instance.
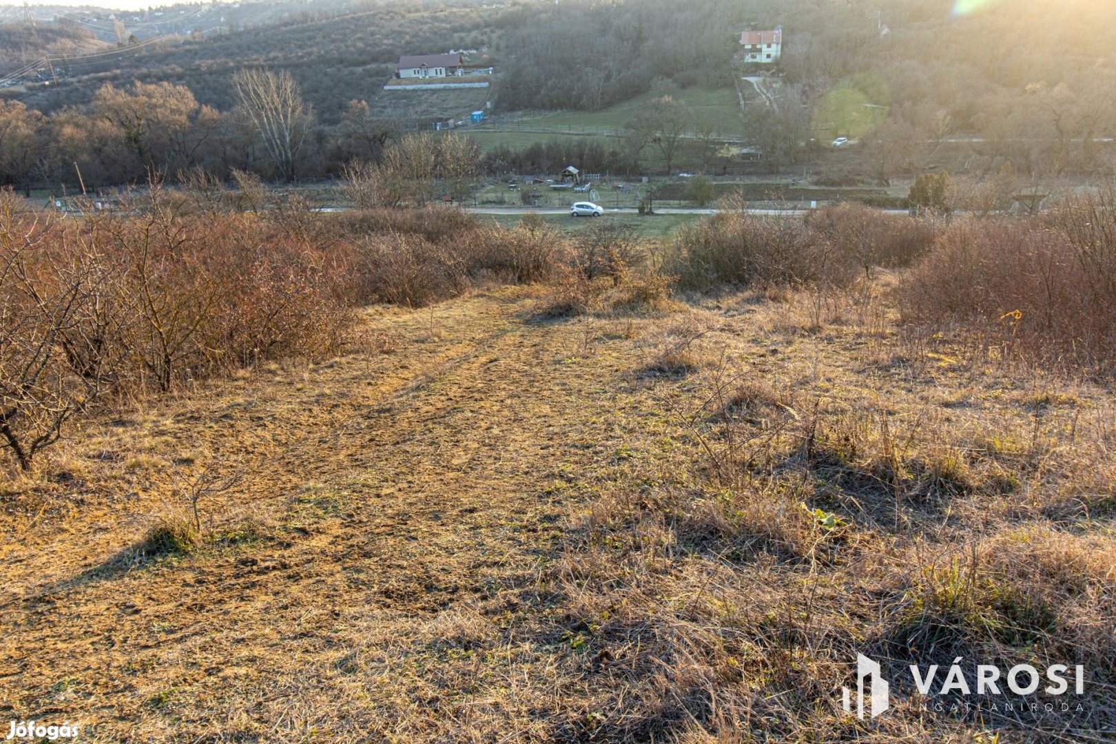
[[[1026,13],[999,12],[1002,4],[249,8],[260,25],[209,36],[180,29],[0,76],[0,102],[17,104],[0,114],[17,119],[20,133],[18,144],[3,146],[12,152],[0,153],[0,183],[26,192],[80,187],[75,163],[97,189],[143,181],[153,170],[172,181],[195,168],[223,180],[233,170],[334,178],[354,157],[378,158],[400,133],[481,107],[490,116],[474,131],[493,176],[538,175],[577,160],[588,172],[625,177],[793,173],[816,185],[888,189],[947,171],[1054,191],[1110,174],[1116,99],[1095,91],[1106,90],[1116,70],[1116,26],[1091,0],[1027,0]],[[785,32],[780,61],[744,64],[737,30],[773,26]],[[492,66],[492,87],[385,94],[398,56],[448,49],[470,50],[466,67]],[[242,69],[290,75],[305,99],[311,136],[299,139],[298,168],[280,167],[261,147],[259,127],[244,126],[235,110],[232,78]],[[136,83],[156,88],[128,105],[155,90],[183,103],[174,135],[154,148],[122,124],[126,110],[105,112],[124,106]],[[354,118],[350,103],[362,100]],[[365,145],[354,146],[356,131]],[[847,147],[838,152],[835,142]]]

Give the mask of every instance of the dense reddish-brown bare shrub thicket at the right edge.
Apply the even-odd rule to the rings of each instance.
[[[943,232],[899,284],[910,331],[952,330],[981,354],[1088,368],[1116,363],[1116,200],[1045,220],[969,221]]]

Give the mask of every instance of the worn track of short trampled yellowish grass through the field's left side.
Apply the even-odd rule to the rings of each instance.
[[[607,460],[637,407],[615,357],[631,345],[570,364],[576,328],[531,320],[527,294],[371,317],[394,351],[264,370],[88,432],[88,452],[239,458],[229,510],[266,529],[113,562],[171,487],[164,465],[125,464],[23,531],[0,555],[0,718],[83,722],[94,741],[406,741],[439,685],[416,659],[462,622],[489,632],[462,618],[518,606],[571,505],[551,485]]]

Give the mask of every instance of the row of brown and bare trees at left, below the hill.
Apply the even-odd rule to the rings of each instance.
[[[287,73],[241,70],[227,85],[234,105],[224,112],[170,83],[108,83],[88,108],[50,115],[0,100],[0,185],[73,193],[173,181],[191,170],[290,182],[340,173],[354,158],[378,161],[398,133],[397,123],[375,118],[363,100],[349,102],[340,123],[323,128]]]

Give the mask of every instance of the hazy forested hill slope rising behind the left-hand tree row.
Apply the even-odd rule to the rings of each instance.
[[[982,173],[1007,164],[1029,174],[1094,173],[1110,168],[1099,145],[1116,134],[1116,26],[1108,22],[1108,4],[278,0],[115,15],[68,9],[61,20],[36,29],[10,27],[0,48],[16,70],[39,54],[62,49],[64,56],[47,70],[0,69],[0,96],[48,115],[73,107],[67,115],[87,116],[106,83],[122,89],[133,81],[169,83],[228,114],[233,74],[269,68],[300,85],[321,125],[319,142],[328,144],[353,99],[368,103],[369,118],[404,125],[430,126],[492,103],[498,116],[562,112],[571,117],[566,134],[595,134],[578,132],[581,113],[615,114],[607,126],[618,131],[642,114],[656,116],[647,105],[653,100],[715,90],[728,106],[667,106],[658,116],[675,112],[674,120],[692,131],[713,127],[739,137],[773,168],[845,138],[857,160],[856,177],[884,184],[892,174],[953,162]],[[3,11],[8,18],[10,11]],[[106,29],[116,38],[121,26],[128,38],[106,44]],[[779,62],[745,70],[739,31],[776,26],[783,29]],[[156,31],[166,35],[143,36]],[[75,56],[83,45],[104,51]],[[496,68],[493,87],[475,96],[383,91],[401,55],[450,49],[477,50],[473,65]],[[744,100],[752,90],[741,86],[744,75],[766,77],[764,100]],[[739,133],[734,100],[745,104]],[[656,122],[643,124],[654,129]],[[514,145],[531,146],[552,134],[525,134]],[[962,143],[964,153],[942,158]],[[628,144],[639,146],[637,139]]]

